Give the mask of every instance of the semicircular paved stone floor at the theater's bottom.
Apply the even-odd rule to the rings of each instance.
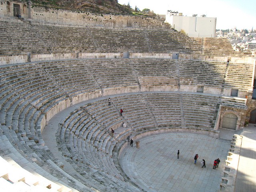
[[[138,149],[126,146],[120,163],[132,181],[146,191],[216,192],[220,189],[229,148],[230,141],[206,135],[157,134],[140,138]],[[197,164],[194,164],[195,154],[199,155]],[[214,170],[216,158],[221,162]],[[206,168],[202,168],[202,159],[206,160]]]

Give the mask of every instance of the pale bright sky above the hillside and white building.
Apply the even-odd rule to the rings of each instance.
[[[128,2],[132,8],[148,8],[156,14],[172,10],[184,16],[216,17],[216,29],[256,29],[256,0],[118,0],[119,4]]]

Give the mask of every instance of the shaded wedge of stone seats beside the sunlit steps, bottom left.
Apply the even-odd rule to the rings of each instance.
[[[76,180],[70,174],[62,170],[63,164],[57,159],[54,159],[47,147],[33,144],[32,141],[19,142],[14,131],[6,126],[0,125],[0,152],[1,157],[12,164],[18,164],[30,173],[33,173],[33,178],[37,178],[38,182],[35,185],[54,186],[58,184],[59,192],[71,191],[94,191]],[[41,146],[41,147],[40,147]],[[20,172],[15,173],[18,177],[24,177]],[[44,178],[43,178],[44,177]],[[25,178],[26,181],[26,178]],[[66,187],[69,186],[69,187]],[[54,187],[55,188],[55,187]],[[50,191],[50,189],[47,189]],[[8,190],[9,191],[9,190]],[[34,191],[34,190],[33,190]],[[46,190],[43,190],[46,191]]]

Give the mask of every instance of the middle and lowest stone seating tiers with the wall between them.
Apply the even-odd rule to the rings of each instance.
[[[182,67],[190,63],[193,63],[190,68]],[[242,78],[248,66],[239,66],[244,69],[237,72]],[[2,66],[0,136],[3,149],[13,146],[15,153],[20,154],[17,163],[22,163],[24,158],[33,172],[59,183],[56,188],[62,188],[62,184],[68,186],[63,191],[70,188],[139,191],[140,187],[128,182],[114,158],[127,138],[181,130],[218,136],[214,124],[219,105],[239,103],[240,108],[246,107],[246,99],[242,98],[180,92],[184,84],[181,80],[188,78],[186,74],[196,76],[199,68],[202,71],[211,68],[208,77],[216,76],[215,69],[220,68],[218,76],[225,78],[223,62],[196,64],[192,60],[88,59]],[[159,79],[154,81],[152,77]],[[249,84],[251,80],[247,76],[239,79],[239,88],[240,81]],[[198,82],[204,80],[198,79]],[[221,80],[207,84],[223,86]],[[158,90],[167,85],[174,92],[145,92],[154,90],[154,86],[158,86]],[[108,95],[114,93],[123,95],[111,96],[112,105],[108,107]],[[86,100],[86,104],[62,117],[58,126],[56,138],[65,159],[62,162],[44,146],[43,128],[60,111]],[[122,117],[120,108],[124,109]],[[127,128],[122,128],[124,122]],[[110,128],[116,130],[114,138],[110,136]],[[8,156],[8,151],[4,156]]]

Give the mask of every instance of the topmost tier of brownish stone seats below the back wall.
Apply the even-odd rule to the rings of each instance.
[[[18,31],[18,32],[17,32]],[[166,29],[112,29],[82,28],[74,26],[49,26],[21,20],[0,20],[1,55],[70,52],[184,52],[195,54],[235,55],[230,44],[222,49],[219,44],[227,42],[218,39],[217,48],[212,44],[216,38],[209,38],[202,46],[201,38],[189,38],[175,30]],[[204,40],[203,40],[204,42]],[[204,48],[205,47],[205,48]],[[206,49],[206,50],[204,50]],[[208,52],[207,50],[211,50]],[[229,50],[229,51],[227,51]]]

